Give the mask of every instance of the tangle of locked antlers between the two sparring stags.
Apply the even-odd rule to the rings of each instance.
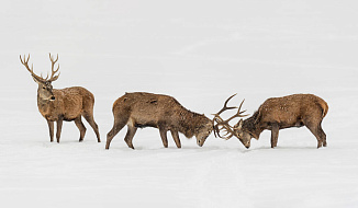
[[[227,107],[227,103],[228,103],[228,101],[230,101],[231,99],[233,99],[235,95],[236,95],[236,94],[233,94],[232,96],[230,96],[230,97],[225,101],[225,103],[224,103],[224,107],[223,107],[221,111],[219,111],[216,114],[213,114],[213,115],[214,115],[213,124],[214,124],[214,135],[215,135],[215,137],[217,136],[217,137],[220,137],[220,138],[222,138],[222,139],[226,139],[226,140],[230,139],[230,138],[232,138],[233,136],[236,136],[236,137],[237,137],[234,127],[232,127],[228,123],[230,123],[232,119],[236,118],[236,117],[245,117],[245,116],[247,116],[247,115],[242,115],[243,113],[246,112],[246,109],[245,109],[245,111],[240,111],[240,109],[242,109],[242,106],[243,106],[243,103],[244,103],[245,100],[243,100],[243,102],[240,103],[240,105],[239,105],[239,107],[238,107],[238,109],[237,109],[237,113],[236,113],[235,115],[233,115],[232,117],[230,117],[230,118],[227,118],[226,120],[224,120],[224,119],[220,116],[221,113],[223,113],[223,112],[225,112],[225,111],[227,111],[227,109],[234,109],[234,108],[237,108],[237,107]],[[216,125],[215,125],[215,123],[216,123]],[[224,130],[224,131],[225,131],[225,135],[224,135],[224,136],[221,136],[221,135],[220,135],[220,131],[221,131],[221,130]],[[227,135],[228,135],[228,137],[226,137]]]

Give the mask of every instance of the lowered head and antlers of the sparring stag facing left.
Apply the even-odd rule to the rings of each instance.
[[[214,124],[214,135],[215,137],[220,137],[222,139],[228,140],[231,139],[233,136],[235,136],[246,148],[250,147],[250,140],[251,137],[248,132],[243,130],[243,119],[238,120],[238,123],[235,126],[231,126],[228,123],[236,118],[236,117],[245,117],[247,115],[242,115],[243,113],[245,113],[246,111],[240,111],[243,103],[245,100],[243,100],[243,102],[240,103],[237,113],[235,115],[233,115],[232,117],[230,117],[228,119],[224,120],[220,114],[227,111],[227,109],[234,109],[237,107],[227,107],[227,103],[231,99],[233,99],[236,94],[233,94],[232,96],[230,96],[225,103],[224,103],[224,107],[219,111],[216,114],[214,115],[213,118],[213,124]],[[216,124],[215,124],[216,123]],[[224,130],[226,134],[224,136],[220,135],[220,131]]]

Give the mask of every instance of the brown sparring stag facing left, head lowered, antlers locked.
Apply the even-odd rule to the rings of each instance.
[[[233,95],[234,96],[234,95]],[[264,102],[264,104],[254,113],[253,116],[243,120],[240,119],[234,127],[228,123],[235,117],[244,117],[240,112],[240,106],[237,113],[231,118],[224,120],[220,114],[226,109],[227,102],[233,97],[228,97],[224,107],[214,114],[214,134],[220,138],[230,139],[233,136],[238,138],[246,147],[250,147],[251,138],[258,139],[260,134],[265,130],[271,130],[271,148],[277,147],[279,130],[291,127],[305,126],[317,139],[317,148],[326,147],[326,134],[323,131],[321,123],[328,112],[327,103],[318,96],[313,94],[293,94],[283,97],[272,97]],[[226,132],[222,137],[220,130]]]

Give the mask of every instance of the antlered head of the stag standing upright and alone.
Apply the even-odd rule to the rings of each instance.
[[[48,74],[46,78],[43,78],[42,76],[36,76],[34,73],[34,70],[33,70],[33,65],[31,66],[31,68],[29,67],[29,59],[30,59],[30,55],[27,56],[27,59],[26,59],[26,56],[24,55],[24,58],[22,59],[21,58],[21,55],[20,55],[20,61],[23,66],[25,66],[25,68],[27,69],[27,71],[30,71],[32,78],[34,79],[34,81],[38,84],[38,89],[37,89],[37,96],[42,100],[45,100],[45,101],[55,101],[55,96],[54,96],[54,93],[53,93],[53,85],[52,85],[52,82],[53,81],[56,81],[58,79],[58,76],[55,76],[58,70],[59,70],[59,65],[57,67],[56,70],[54,70],[55,68],[55,63],[57,62],[58,60],[58,55],[57,55],[57,58],[56,60],[53,59],[53,57],[51,56],[49,54],[49,60],[52,62],[52,73],[51,73],[51,77],[48,78]]]

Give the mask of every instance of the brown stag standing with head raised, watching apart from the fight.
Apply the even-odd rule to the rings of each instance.
[[[33,66],[31,68],[29,67],[29,59],[30,55],[27,59],[25,56],[23,59],[20,56],[21,63],[25,66],[34,81],[38,84],[37,107],[40,113],[47,120],[51,142],[54,141],[54,122],[57,123],[56,138],[57,142],[59,142],[63,120],[75,120],[75,124],[80,131],[79,141],[82,141],[86,134],[86,127],[81,122],[81,116],[83,116],[93,128],[98,142],[100,142],[98,125],[93,118],[93,94],[80,86],[66,88],[61,90],[53,89],[52,82],[56,81],[59,76],[59,73],[56,74],[59,70],[59,65],[57,69],[54,70],[55,63],[58,60],[58,55],[56,60],[54,60],[49,54],[49,60],[52,62],[52,74],[49,78],[48,74],[46,78],[36,76],[33,71]]]

